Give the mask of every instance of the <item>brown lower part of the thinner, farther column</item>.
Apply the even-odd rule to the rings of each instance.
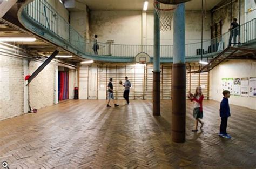
[[[153,116],[160,116],[160,72],[153,72]]]

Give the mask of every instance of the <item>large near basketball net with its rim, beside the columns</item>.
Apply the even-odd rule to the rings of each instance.
[[[160,22],[160,31],[170,31],[172,29],[172,17],[177,5],[163,4],[158,1],[154,2]]]

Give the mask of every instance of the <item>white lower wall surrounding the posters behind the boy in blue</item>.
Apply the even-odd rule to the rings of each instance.
[[[253,60],[231,60],[218,65],[210,71],[210,99],[221,101],[223,98],[222,78],[256,77],[256,62]],[[231,96],[230,104],[256,109],[255,97]]]

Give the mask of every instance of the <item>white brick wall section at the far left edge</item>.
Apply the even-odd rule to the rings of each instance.
[[[0,55],[0,120],[23,113],[23,59]]]

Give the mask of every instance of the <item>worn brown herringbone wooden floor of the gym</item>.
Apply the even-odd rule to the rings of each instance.
[[[70,100],[35,114],[0,121],[0,163],[10,168],[256,168],[256,112],[231,105],[220,138],[219,102],[204,101],[202,131],[192,133],[187,102],[186,143],[171,142],[171,100],[152,116],[150,100]]]

